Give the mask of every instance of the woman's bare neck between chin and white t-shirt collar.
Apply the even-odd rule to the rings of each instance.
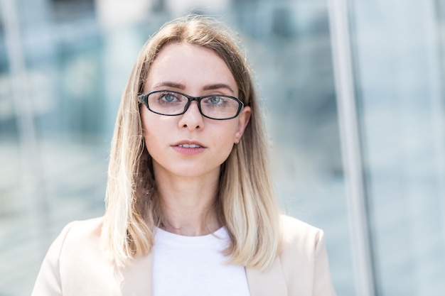
[[[183,236],[203,236],[222,225],[215,210],[218,177],[183,178],[156,175],[162,200],[164,230]]]

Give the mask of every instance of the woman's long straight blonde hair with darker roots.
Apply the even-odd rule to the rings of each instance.
[[[151,63],[163,46],[188,43],[213,50],[229,67],[240,100],[252,114],[240,143],[221,166],[215,209],[231,244],[230,263],[267,268],[279,249],[279,209],[269,177],[267,136],[254,92],[250,67],[231,31],[204,16],[166,23],[144,45],[122,95],[114,128],[107,182],[102,245],[118,265],[144,256],[154,244],[154,226],[162,209],[157,197],[151,156],[144,147],[137,96]]]

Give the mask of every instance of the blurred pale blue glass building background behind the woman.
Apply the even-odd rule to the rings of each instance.
[[[165,21],[237,31],[283,212],[326,232],[338,295],[445,295],[445,0],[1,0],[0,295],[104,211],[120,96]]]

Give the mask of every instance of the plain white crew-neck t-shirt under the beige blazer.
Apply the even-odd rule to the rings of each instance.
[[[156,229],[154,296],[250,296],[245,268],[227,264],[221,251],[225,227],[207,236],[180,236]]]

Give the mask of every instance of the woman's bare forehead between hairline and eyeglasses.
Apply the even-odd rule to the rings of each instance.
[[[226,84],[237,94],[237,82],[225,61],[213,50],[172,43],[164,46],[151,64],[144,92],[163,82],[181,84],[183,90],[198,90],[210,84]]]

